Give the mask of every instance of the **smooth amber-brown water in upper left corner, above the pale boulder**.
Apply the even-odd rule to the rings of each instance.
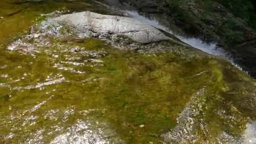
[[[93,0],[42,0],[42,1],[19,1],[1,0],[0,1],[0,46],[4,48],[13,41],[14,37],[20,37],[29,31],[29,27],[44,17],[41,14],[53,11],[98,11],[107,13],[101,9]]]

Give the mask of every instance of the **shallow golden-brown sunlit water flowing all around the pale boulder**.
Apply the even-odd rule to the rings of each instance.
[[[240,143],[244,132],[253,141],[256,84],[224,59],[29,35],[44,13],[105,12],[89,0],[1,0],[0,7],[0,143]],[[6,50],[25,34],[35,38],[24,44],[31,49]]]

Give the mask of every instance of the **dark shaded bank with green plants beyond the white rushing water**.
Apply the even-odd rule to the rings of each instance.
[[[166,0],[187,33],[217,42],[256,76],[255,0]],[[173,15],[173,14],[172,14]]]

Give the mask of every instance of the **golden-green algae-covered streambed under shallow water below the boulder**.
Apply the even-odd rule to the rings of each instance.
[[[49,48],[51,54],[42,51],[29,56],[6,52],[1,57],[0,66],[6,67],[0,69],[0,72],[8,74],[8,77],[2,77],[0,83],[9,87],[0,87],[0,135],[14,134],[12,139],[2,137],[6,143],[33,139],[31,134],[38,133],[38,130],[44,132],[40,141],[48,143],[56,136],[66,133],[65,129],[74,125],[76,120],[107,122],[126,143],[160,143],[163,141],[160,135],[177,125],[176,118],[180,112],[202,88],[206,91],[202,97],[205,113],[197,119],[202,118],[208,123],[212,136],[218,136],[223,131],[240,136],[245,128],[246,118],[253,118],[252,109],[240,107],[240,103],[244,103],[247,97],[236,94],[251,91],[250,88],[254,88],[255,84],[252,85],[254,82],[251,78],[224,60],[211,57],[184,59],[184,56],[171,52],[141,54],[121,51],[94,38],[67,45],[68,49],[79,45],[86,51],[101,53],[102,56],[98,59],[103,61],[102,64],[89,61],[83,66],[64,65],[85,72],[82,74],[53,68],[54,64],[66,61],[67,55],[78,57],[74,62],[91,59],[91,56],[81,53],[60,51],[58,47]],[[52,56],[55,54],[58,54],[57,58]],[[226,72],[233,73],[230,75]],[[42,83],[49,76],[57,79],[58,75],[65,77],[66,81],[42,88],[22,89]],[[233,77],[234,75],[238,78]],[[237,83],[244,86],[237,89]],[[15,89],[16,87],[22,88]],[[229,97],[231,92],[235,93],[232,98]],[[35,105],[43,101],[46,102],[35,109]],[[92,110],[88,115],[81,113],[89,109]],[[236,115],[232,128],[227,123],[228,117],[217,115],[219,109],[224,109],[225,115]],[[52,116],[49,115],[51,111]],[[67,111],[72,113],[67,116]],[[60,131],[55,131],[56,125],[61,128]],[[200,141],[211,139],[203,132],[200,135],[205,137]]]

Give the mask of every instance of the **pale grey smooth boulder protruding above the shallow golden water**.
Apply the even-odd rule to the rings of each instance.
[[[123,35],[139,43],[169,40],[155,27],[129,17],[109,16],[92,12],[72,13],[48,19],[50,24],[68,25],[79,37]]]

